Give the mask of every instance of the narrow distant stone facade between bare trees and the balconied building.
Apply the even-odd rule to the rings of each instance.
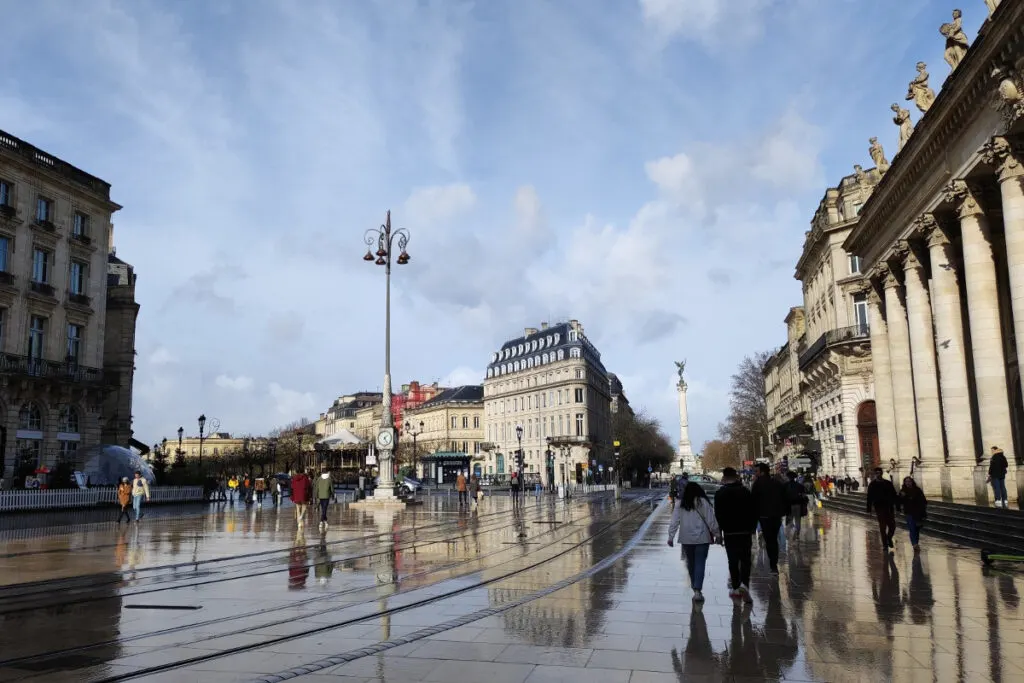
[[[803,306],[790,309],[785,329],[785,344],[764,367],[769,450],[776,460],[803,453],[810,436],[810,399],[800,381],[800,344],[807,331]]]

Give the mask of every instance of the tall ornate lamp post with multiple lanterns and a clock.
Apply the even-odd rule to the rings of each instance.
[[[367,245],[367,255],[362,260],[384,266],[384,386],[381,390],[382,414],[381,427],[377,433],[378,467],[380,468],[380,485],[374,492],[374,498],[381,500],[394,497],[394,465],[392,453],[394,449],[394,417],[391,415],[391,259],[395,247],[399,250],[394,258],[397,265],[406,265],[410,261],[406,247],[409,245],[409,231],[400,227],[391,229],[391,212],[383,225],[367,230],[364,236]],[[374,246],[377,251],[374,252]],[[375,258],[376,257],[376,258]]]

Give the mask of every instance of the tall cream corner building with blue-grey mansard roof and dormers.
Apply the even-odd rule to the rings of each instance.
[[[563,476],[581,480],[595,460],[608,463],[609,391],[601,354],[579,321],[526,328],[522,337],[505,342],[487,366],[483,413],[490,449],[485,472],[512,471],[520,426],[523,472],[545,485]],[[552,447],[557,458],[548,455]]]

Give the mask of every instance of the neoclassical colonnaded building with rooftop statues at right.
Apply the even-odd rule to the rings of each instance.
[[[1024,3],[1002,2],[916,124],[844,248],[861,257],[881,457],[930,495],[987,500],[991,446],[1024,480]],[[893,105],[894,111],[899,110]]]

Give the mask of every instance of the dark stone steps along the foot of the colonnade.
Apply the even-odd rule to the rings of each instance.
[[[855,514],[864,518],[873,519],[874,515],[865,511],[865,501],[863,496],[839,496],[826,499],[824,506],[830,510]],[[972,507],[972,506],[959,506]],[[987,519],[971,519],[963,513],[956,511],[936,510],[932,511],[929,504],[928,521],[924,526],[924,533],[937,536],[955,544],[982,548],[991,551],[1024,552],[1024,530],[1008,526],[1006,524],[990,524]],[[976,512],[982,517],[984,508]],[[1001,511],[995,511],[1001,512]],[[906,528],[906,522],[902,515],[897,515],[897,524]]]

